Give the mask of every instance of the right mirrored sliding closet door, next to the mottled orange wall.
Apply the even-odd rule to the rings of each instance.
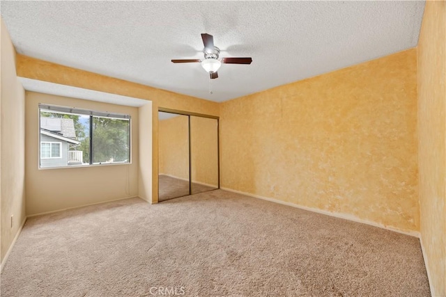
[[[218,184],[218,121],[190,115],[191,193],[215,190]]]

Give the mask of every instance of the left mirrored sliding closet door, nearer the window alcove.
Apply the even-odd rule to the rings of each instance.
[[[189,116],[158,112],[158,200],[190,195]]]

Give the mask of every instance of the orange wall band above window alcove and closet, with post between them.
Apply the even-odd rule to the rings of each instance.
[[[198,99],[186,95],[171,93],[166,90],[151,88],[139,83],[131,83],[121,79],[105,77],[100,74],[86,72],[63,65],[49,63],[47,61],[30,58],[23,55],[17,55],[17,75],[29,79],[38,79],[52,83],[60,83],[77,88],[86,88],[89,90],[98,90],[100,92],[124,95],[140,99],[150,100],[152,103],[152,138],[151,141],[144,141],[146,145],[152,145],[151,150],[148,147],[140,147],[145,152],[152,152],[152,161],[140,163],[140,172],[151,170],[152,182],[146,182],[144,186],[139,187],[146,195],[146,191],[151,191],[151,201],[158,201],[158,108],[175,109],[178,111],[187,111],[191,113],[201,113],[206,115],[218,116],[220,106],[217,102]],[[146,114],[147,109],[144,109]],[[147,120],[147,119],[144,119]],[[146,125],[147,127],[147,125]],[[142,133],[142,132],[141,132]],[[146,175],[148,176],[148,175]],[[151,189],[148,190],[148,186]]]

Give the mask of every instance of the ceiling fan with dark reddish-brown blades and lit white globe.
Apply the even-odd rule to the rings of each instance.
[[[208,33],[202,33],[201,39],[203,39],[203,54],[204,60],[200,59],[180,59],[172,60],[172,63],[198,63],[201,62],[201,66],[206,72],[209,73],[210,79],[216,79],[218,77],[217,70],[220,68],[222,63],[225,64],[251,64],[252,58],[221,58],[220,49],[215,47],[213,35]]]

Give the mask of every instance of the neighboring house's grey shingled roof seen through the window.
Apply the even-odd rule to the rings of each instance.
[[[76,140],[75,122],[72,119],[41,117],[40,133],[67,141],[68,143],[80,144]]]

